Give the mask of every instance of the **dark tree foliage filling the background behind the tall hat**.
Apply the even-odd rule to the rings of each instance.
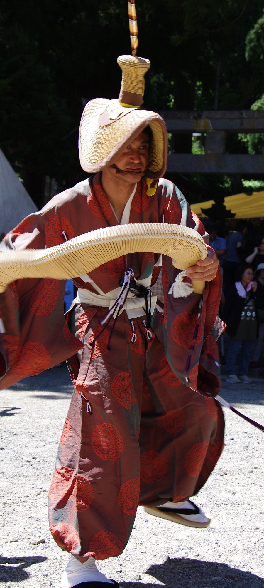
[[[243,109],[260,98],[252,63],[263,68],[262,0],[136,8],[138,55],[151,60],[146,108]],[[116,59],[130,52],[126,0],[2,0],[0,147],[23,166],[26,187],[34,173],[75,181],[83,105],[118,96]]]

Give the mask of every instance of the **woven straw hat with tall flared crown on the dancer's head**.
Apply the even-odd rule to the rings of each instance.
[[[111,165],[124,147],[146,126],[153,139],[148,155],[150,178],[161,178],[167,166],[167,129],[163,118],[153,111],[141,109],[144,74],[150,61],[132,55],[117,59],[122,70],[118,100],[96,98],[87,102],[79,130],[80,164],[86,172],[98,172]]]

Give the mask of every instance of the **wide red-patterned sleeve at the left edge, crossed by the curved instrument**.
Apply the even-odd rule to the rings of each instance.
[[[44,249],[75,236],[63,206],[72,196],[55,196],[42,211],[23,219],[1,243],[0,256]],[[0,293],[0,389],[52,368],[82,348],[67,326],[64,296],[65,281],[49,278],[16,280]]]

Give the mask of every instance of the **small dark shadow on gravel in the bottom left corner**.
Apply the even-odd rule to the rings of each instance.
[[[46,561],[46,557],[2,557],[0,556],[0,580],[4,582],[21,582],[27,580],[27,567]]]

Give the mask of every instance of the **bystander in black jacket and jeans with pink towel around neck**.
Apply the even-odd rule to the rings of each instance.
[[[230,336],[230,345],[226,356],[226,382],[251,383],[248,377],[254,342],[258,336],[258,304],[256,300],[256,282],[252,281],[251,266],[241,265],[236,273],[236,282],[226,293],[223,319],[226,332]],[[239,363],[239,377],[236,376],[236,357],[242,347]]]

